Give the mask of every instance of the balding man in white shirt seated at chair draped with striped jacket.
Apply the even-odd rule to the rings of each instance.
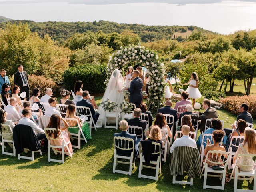
[[[189,137],[189,132],[190,132],[190,127],[188,125],[183,125],[181,127],[181,133],[183,134],[183,136],[181,138],[176,139],[173,142],[172,147],[170,149],[170,153],[173,152],[174,148],[181,147],[181,146],[196,148],[196,141]]]

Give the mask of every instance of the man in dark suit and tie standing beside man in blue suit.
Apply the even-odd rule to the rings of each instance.
[[[29,84],[28,84],[28,74],[23,71],[23,66],[18,65],[18,71],[14,74],[13,79],[14,84],[20,86],[20,92],[26,92],[27,101],[29,100]]]

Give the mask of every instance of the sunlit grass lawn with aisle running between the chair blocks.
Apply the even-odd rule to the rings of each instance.
[[[100,97],[96,102],[100,102]],[[220,119],[225,121],[225,127],[230,128],[236,116],[226,110],[218,110]],[[254,121],[256,126],[256,121]],[[92,131],[92,140],[87,144],[82,142],[80,150],[74,150],[73,158],[65,156],[65,163],[48,162],[48,153],[35,155],[33,162],[18,160],[17,157],[0,155],[0,191],[177,191],[183,192],[214,192],[220,190],[203,190],[203,178],[194,178],[193,186],[172,184],[169,174],[169,159],[162,162],[162,173],[158,181],[138,178],[139,160],[132,176],[113,174],[113,134],[120,132],[114,129],[98,128]],[[10,148],[9,148],[10,149]],[[2,148],[0,154],[2,154]],[[53,152],[52,152],[52,155]],[[52,156],[53,157],[53,156]],[[60,155],[57,156],[60,158]],[[118,168],[127,168],[120,166]],[[147,170],[144,170],[148,172]],[[150,170],[149,173],[152,173]],[[185,177],[186,178],[186,177]],[[220,185],[218,178],[210,178],[208,184]],[[234,181],[225,185],[225,191],[233,191]],[[238,187],[252,189],[253,184],[239,181]]]

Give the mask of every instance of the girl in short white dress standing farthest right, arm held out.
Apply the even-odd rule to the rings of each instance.
[[[196,99],[201,98],[201,96],[202,96],[198,89],[199,80],[198,80],[198,76],[197,76],[196,72],[193,72],[191,74],[188,82],[184,83],[182,85],[188,85],[188,84],[190,84],[190,85],[188,86],[186,92],[188,92],[188,94],[189,94],[188,97],[193,99],[193,108],[194,108]]]

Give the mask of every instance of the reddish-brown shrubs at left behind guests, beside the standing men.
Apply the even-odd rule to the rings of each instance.
[[[10,84],[11,87],[14,86],[13,83],[13,75],[10,76]],[[30,86],[30,94],[32,94],[34,88],[40,88],[41,90],[41,96],[43,96],[45,94],[45,90],[46,88],[52,88],[52,92],[54,96],[59,96],[59,90],[58,90],[58,86],[57,84],[51,80],[51,79],[47,79],[44,76],[36,76],[36,75],[28,75],[28,83]]]

